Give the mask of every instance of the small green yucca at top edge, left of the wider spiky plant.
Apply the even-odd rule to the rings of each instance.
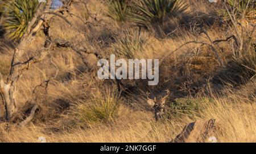
[[[130,13],[130,7],[127,0],[109,0],[108,16],[118,22],[125,22]]]

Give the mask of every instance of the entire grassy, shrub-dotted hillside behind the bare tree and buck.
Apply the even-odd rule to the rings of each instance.
[[[168,3],[166,10],[147,16],[143,13],[152,8],[145,2],[150,3],[78,1],[64,18],[49,19],[50,38],[71,41],[86,48],[86,53],[56,45],[44,60],[24,70],[16,87],[19,110],[13,122],[5,121],[5,106],[0,104],[0,141],[38,142],[44,136],[47,142],[167,142],[185,124],[214,118],[223,130],[218,141],[255,142],[254,20],[229,16],[222,3],[204,0]],[[3,14],[3,25],[6,19]],[[9,34],[6,29],[0,40],[3,81],[22,41],[11,40]],[[19,61],[38,55],[44,47],[44,31],[35,37]],[[159,59],[159,84],[123,80],[118,91],[115,81],[98,79],[97,61],[111,54],[122,59]],[[166,117],[155,122],[146,92],[165,89],[171,91]],[[34,118],[17,127],[34,103],[39,105]]]

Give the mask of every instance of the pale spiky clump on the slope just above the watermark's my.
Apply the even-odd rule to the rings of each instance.
[[[142,51],[144,45],[148,43],[146,31],[130,29],[115,37],[113,44],[115,55],[121,58],[134,59]]]

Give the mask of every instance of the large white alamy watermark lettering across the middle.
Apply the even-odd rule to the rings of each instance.
[[[104,79],[144,79],[148,81],[148,85],[158,85],[159,82],[159,60],[152,59],[124,59],[115,60],[115,55],[110,55],[110,61],[101,59],[98,61],[98,78]]]

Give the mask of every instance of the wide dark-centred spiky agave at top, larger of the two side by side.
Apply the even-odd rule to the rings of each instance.
[[[150,24],[166,22],[172,16],[186,14],[188,6],[179,0],[144,0],[134,5],[131,19],[148,27]]]

